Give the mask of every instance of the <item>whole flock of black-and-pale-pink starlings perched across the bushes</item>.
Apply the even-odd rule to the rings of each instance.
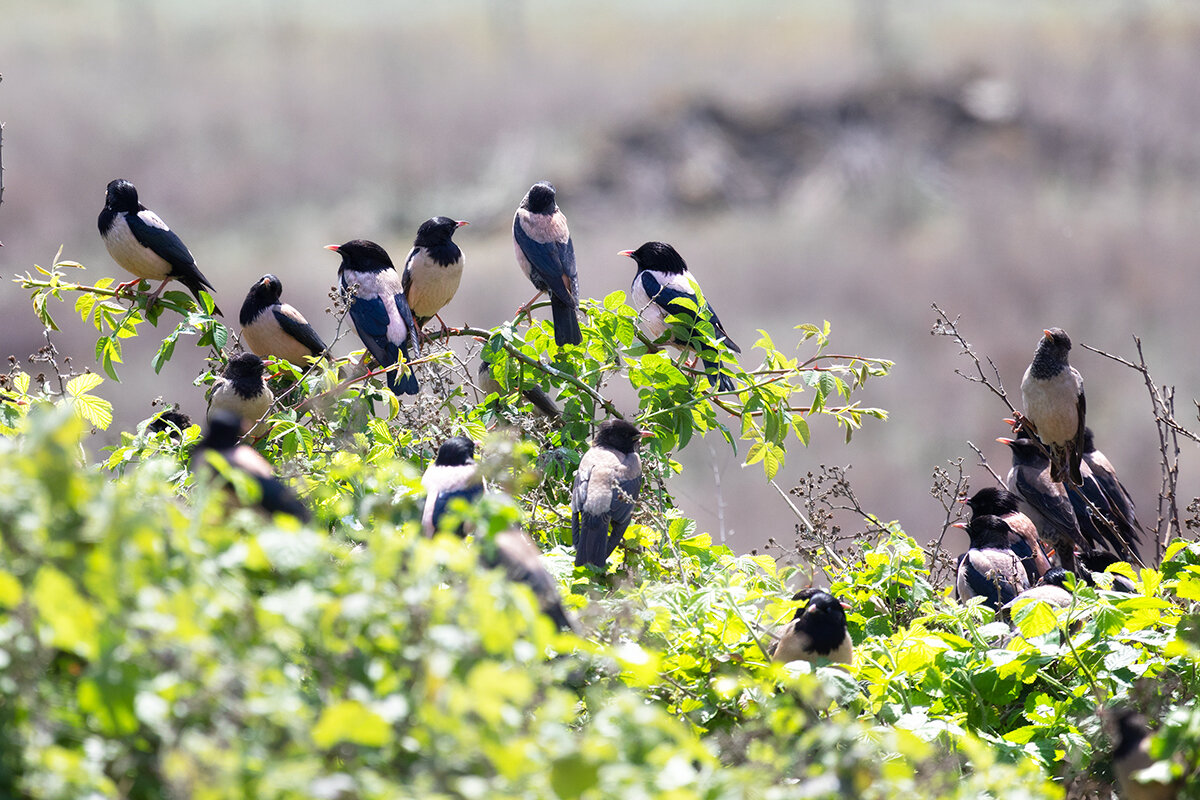
[[[397,270],[379,245],[354,239],[326,248],[341,255],[338,281],[348,313],[370,357],[385,374],[396,395],[420,391],[409,361],[419,351],[421,329],[451,301],[458,288],[462,251],[455,231],[466,222],[433,217],[420,225],[402,270]],[[150,295],[157,299],[166,285],[181,282],[196,297],[212,284],[179,236],[138,201],[137,190],[126,180],[108,185],[98,227],[113,259],[133,281],[161,281]],[[578,276],[566,218],[559,210],[554,187],[534,184],[521,200],[512,221],[518,266],[536,294],[517,312],[520,318],[544,294],[550,295],[554,341],[559,347],[580,344]],[[713,307],[704,300],[695,277],[679,253],[664,242],[647,242],[622,251],[636,263],[630,300],[652,339],[689,350],[703,362],[704,373],[720,391],[733,391],[732,375],[721,366],[722,350],[739,353],[725,332]],[[295,307],[282,301],[283,285],[274,275],[259,278],[241,307],[241,342],[250,353],[229,360],[214,384],[208,429],[193,453],[197,465],[214,451],[232,467],[251,475],[262,487],[260,505],[302,521],[310,512],[300,498],[276,477],[270,463],[253,447],[241,444],[250,434],[260,435],[266,410],[274,402],[266,386],[263,357],[307,367],[312,359],[328,356],[328,345]],[[220,314],[220,308],[215,308]],[[680,327],[671,319],[689,320]],[[702,325],[703,323],[703,325]],[[445,324],[442,323],[443,329]],[[1036,597],[1055,606],[1069,606],[1073,583],[1068,572],[1087,583],[1117,561],[1138,563],[1142,529],[1133,500],[1121,485],[1112,464],[1096,450],[1085,426],[1084,381],[1069,365],[1070,338],[1061,329],[1044,331],[1021,381],[1024,414],[1007,420],[1012,438],[1001,438],[1012,450],[1009,489],[984,488],[970,499],[971,516],[959,523],[970,536],[970,548],[958,561],[955,593],[962,600],[983,602],[1008,618],[1016,602]],[[371,373],[378,374],[378,373]],[[494,386],[491,366],[480,366],[485,387]],[[544,393],[527,395],[542,414],[558,409]],[[182,419],[162,415],[160,427]],[[602,422],[592,447],[583,455],[571,492],[571,533],[576,565],[604,570],[630,524],[642,486],[638,443],[646,435],[624,420]],[[475,446],[455,437],[438,450],[422,477],[426,504],[422,529],[432,535],[454,513],[456,501],[470,504],[484,493],[474,459]],[[455,523],[463,533],[463,525]],[[577,630],[563,607],[557,584],[541,564],[540,551],[522,530],[496,536],[485,560],[533,588],[542,610],[563,630]],[[1134,590],[1120,575],[1105,588]],[[776,661],[852,663],[853,643],[846,626],[844,602],[822,589],[804,589],[793,601],[793,619],[782,628],[773,649]],[[1118,721],[1123,739],[1118,745],[1141,752],[1134,722]],[[1141,728],[1144,730],[1144,726]],[[1140,747],[1140,750],[1139,750]],[[1132,796],[1138,796],[1136,794]]]

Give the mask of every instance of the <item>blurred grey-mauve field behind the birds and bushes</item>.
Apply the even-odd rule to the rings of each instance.
[[[778,482],[853,464],[863,506],[922,542],[943,518],[935,467],[965,458],[990,482],[968,440],[1008,467],[1007,409],[954,373],[971,365],[930,336],[930,303],[961,315],[1018,404],[1042,329],[1064,327],[1098,445],[1151,524],[1146,387],[1078,344],[1132,357],[1140,336],[1195,423],[1200,4],[0,0],[0,356],[43,344],[12,275],[61,246],[89,281],[128,277],[96,230],[113,178],[181,235],[230,324],[270,271],[326,335],[322,246],[361,236],[401,259],[438,213],[472,223],[446,321],[510,318],[532,294],[512,212],[550,179],[583,294],[628,290],[614,253],[660,239],[744,363],[757,329],[786,348],[823,319],[834,351],[894,360],[862,396],[890,420],[848,446],[815,420]],[[55,315],[59,349],[96,368],[95,332]],[[154,375],[156,347],[127,344],[122,383],[101,389],[113,432],[155,397],[203,414],[199,351]],[[740,457],[690,444],[680,504],[738,551],[790,541],[794,517]],[[1198,465],[1184,444],[1181,506]]]

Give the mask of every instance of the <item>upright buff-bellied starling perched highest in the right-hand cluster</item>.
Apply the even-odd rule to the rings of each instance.
[[[1025,420],[1033,433],[1050,449],[1050,476],[1062,481],[1068,475],[1076,485],[1084,482],[1080,463],[1084,458],[1084,378],[1067,361],[1070,337],[1061,327],[1043,331],[1033,361],[1021,378]]]

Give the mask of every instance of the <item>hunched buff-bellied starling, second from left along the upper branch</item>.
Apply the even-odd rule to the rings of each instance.
[[[308,359],[320,357],[329,348],[282,295],[283,283],[274,275],[264,275],[250,288],[239,315],[241,341],[257,355],[282,359],[302,369]]]

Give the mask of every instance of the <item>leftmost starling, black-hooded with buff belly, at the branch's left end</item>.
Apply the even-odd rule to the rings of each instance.
[[[109,181],[104,210],[96,223],[108,254],[137,276],[133,281],[118,284],[115,291],[134,287],[142,278],[162,281],[150,295],[151,301],[157,300],[173,279],[187,287],[197,302],[200,289],[215,291],[182,240],[157,213],[138,203],[138,190],[127,180]],[[212,313],[220,314],[221,309],[214,305]]]

